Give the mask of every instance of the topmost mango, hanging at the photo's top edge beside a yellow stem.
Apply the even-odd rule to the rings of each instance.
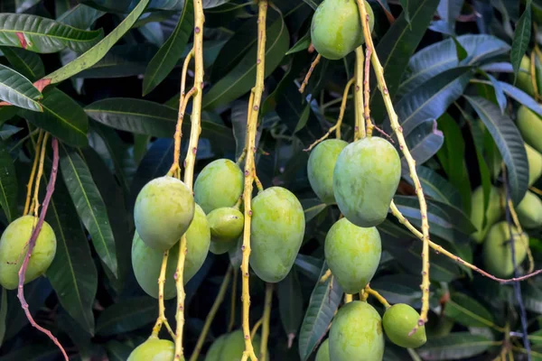
[[[367,1],[369,29],[372,32],[375,16]],[[356,0],[325,0],[316,8],[311,23],[311,40],[322,57],[338,60],[365,42]]]

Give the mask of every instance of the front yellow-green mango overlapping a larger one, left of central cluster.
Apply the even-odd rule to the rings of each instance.
[[[190,226],[194,208],[192,192],[181,180],[156,178],[135,199],[135,229],[146,245],[167,251]]]

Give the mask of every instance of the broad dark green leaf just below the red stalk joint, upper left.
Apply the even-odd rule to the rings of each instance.
[[[23,110],[21,116],[65,143],[86,146],[89,120],[83,108],[57,88],[46,89],[43,95],[42,113]]]

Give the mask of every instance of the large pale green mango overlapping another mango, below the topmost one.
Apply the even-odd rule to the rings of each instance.
[[[344,217],[358,227],[378,226],[388,215],[401,178],[399,154],[372,136],[346,146],[333,170],[333,192]]]

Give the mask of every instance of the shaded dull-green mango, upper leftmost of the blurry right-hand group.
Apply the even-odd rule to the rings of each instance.
[[[476,242],[481,243],[490,227],[493,226],[504,213],[503,208],[500,207],[500,190],[491,186],[490,201],[488,203],[488,208],[486,209],[486,223],[483,228],[481,227],[483,223],[483,189],[481,186],[472,192],[471,200],[471,222],[472,225],[478,229],[471,237]]]

